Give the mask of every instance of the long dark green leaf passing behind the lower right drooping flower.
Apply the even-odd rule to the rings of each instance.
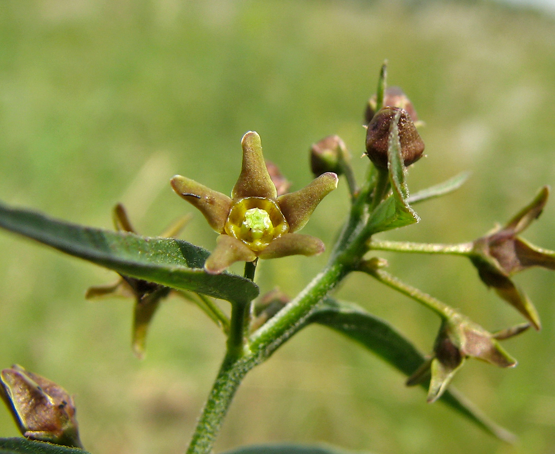
[[[316,306],[307,323],[316,322],[339,331],[366,347],[398,371],[410,376],[425,361],[412,343],[386,321],[356,305],[339,303],[326,297]],[[421,385],[427,389],[429,380]],[[498,426],[472,403],[450,387],[440,400],[476,423],[483,430],[504,441],[514,441],[512,433]]]

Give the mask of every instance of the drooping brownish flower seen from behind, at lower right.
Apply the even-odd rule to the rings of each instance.
[[[499,367],[514,367],[517,362],[500,345],[498,340],[528,329],[530,325],[518,325],[495,334],[483,329],[467,317],[455,313],[443,320],[440,332],[429,357],[407,380],[407,385],[417,385],[430,377],[428,402],[435,402],[447,389],[455,373],[466,358],[473,357]]]

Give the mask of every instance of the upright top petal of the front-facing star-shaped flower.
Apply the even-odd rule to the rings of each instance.
[[[239,179],[231,191],[235,198],[265,197],[276,198],[276,187],[270,178],[264,156],[260,136],[254,131],[249,131],[241,140],[243,147],[243,165]]]

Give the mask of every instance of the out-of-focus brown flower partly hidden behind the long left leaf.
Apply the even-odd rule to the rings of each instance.
[[[174,225],[170,226],[162,235],[162,238],[171,238],[179,234],[188,216],[183,216]],[[118,231],[136,233],[131,225],[123,205],[118,204],[114,208],[114,224]],[[144,279],[132,278],[120,274],[120,279],[114,284],[89,287],[85,298],[92,299],[103,296],[132,297],[135,300],[133,310],[133,352],[135,356],[142,358],[144,355],[147,330],[160,301],[171,292],[170,287],[162,284],[145,281]]]

